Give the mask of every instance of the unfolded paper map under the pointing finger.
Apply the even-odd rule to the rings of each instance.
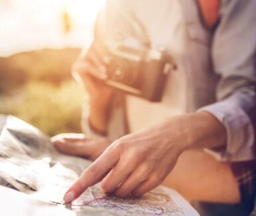
[[[48,136],[11,116],[0,115],[0,184],[62,205],[79,215],[198,215],[176,191],[158,187],[140,199],[106,195],[97,184],[72,204],[63,194],[90,165],[59,153]]]

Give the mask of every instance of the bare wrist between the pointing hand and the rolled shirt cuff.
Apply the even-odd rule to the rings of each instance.
[[[225,127],[205,111],[172,117],[160,131],[164,139],[168,137],[169,144],[176,145],[182,151],[221,146],[227,136]]]

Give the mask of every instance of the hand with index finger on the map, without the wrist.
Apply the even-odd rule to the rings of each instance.
[[[102,189],[115,192],[118,197],[130,193],[140,196],[156,188],[172,170],[182,150],[172,149],[168,140],[159,146],[158,131],[160,128],[147,129],[112,143],[68,189],[64,201],[73,201],[101,180]]]

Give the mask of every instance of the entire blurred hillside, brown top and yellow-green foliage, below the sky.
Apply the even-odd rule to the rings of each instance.
[[[38,50],[0,58],[0,113],[14,115],[47,135],[80,133],[86,94],[70,74],[80,50]]]

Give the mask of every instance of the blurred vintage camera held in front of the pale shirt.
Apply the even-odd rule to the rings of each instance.
[[[176,68],[161,49],[137,49],[119,45],[108,48],[106,84],[152,102],[162,99],[166,78]]]

